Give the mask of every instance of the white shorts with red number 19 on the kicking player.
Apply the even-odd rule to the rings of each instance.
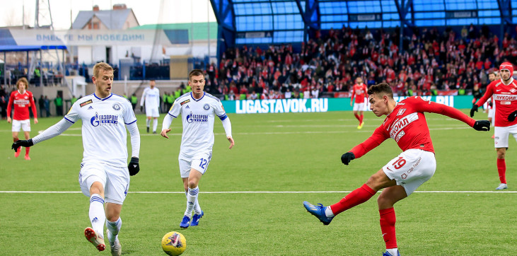
[[[434,153],[421,149],[408,149],[383,166],[388,178],[404,187],[408,196],[433,177],[435,170]]]

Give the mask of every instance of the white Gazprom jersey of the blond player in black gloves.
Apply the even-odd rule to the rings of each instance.
[[[101,99],[93,93],[77,100],[64,119],[83,121],[83,162],[127,166],[125,124],[136,122],[129,100],[115,94]]]

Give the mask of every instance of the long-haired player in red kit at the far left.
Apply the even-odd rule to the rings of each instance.
[[[27,91],[29,82],[27,78],[22,77],[16,81],[17,91],[11,93],[9,97],[9,103],[7,104],[7,122],[11,122],[11,107],[14,109],[13,114],[13,141],[18,141],[18,132],[20,128],[23,129],[25,139],[30,139],[30,115],[29,107],[33,109],[34,124],[37,124],[36,115],[36,104],[34,103],[33,93]],[[20,156],[21,147],[19,147],[14,153],[15,157]],[[25,148],[25,160],[30,160],[29,157],[30,148]]]

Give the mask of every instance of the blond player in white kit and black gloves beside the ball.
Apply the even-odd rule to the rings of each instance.
[[[62,134],[81,120],[83,161],[79,172],[81,191],[90,197],[91,228],[84,230],[86,239],[99,251],[105,249],[104,226],[112,255],[121,255],[118,233],[122,226],[120,211],[129,190],[129,175],[139,172],[140,134],[131,103],[111,93],[113,69],[100,62],[93,66],[95,93],[72,105],[64,118],[33,139],[16,141],[12,148],[33,146]],[[132,158],[127,165],[127,134],[131,136]]]

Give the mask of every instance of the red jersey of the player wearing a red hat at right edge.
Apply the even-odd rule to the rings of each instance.
[[[492,97],[492,103],[496,107],[494,115],[494,125],[496,127],[509,127],[517,124],[517,120],[513,122],[508,121],[508,116],[511,112],[517,110],[517,83],[513,78],[511,79],[508,86],[505,86],[501,79],[492,81],[487,86],[487,91],[483,97],[476,103],[480,107]]]

